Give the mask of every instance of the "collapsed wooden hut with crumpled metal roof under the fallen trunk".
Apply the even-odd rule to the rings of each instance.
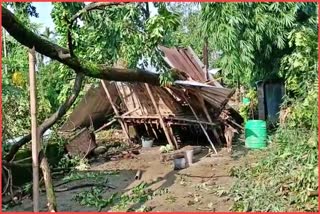
[[[230,122],[226,119],[225,109],[235,91],[224,88],[208,75],[204,64],[190,47],[161,46],[160,50],[180,80],[166,87],[101,81],[75,107],[61,127],[61,133],[65,135],[81,130],[79,133],[83,134],[87,127],[99,131],[117,121],[129,144],[147,133],[156,139],[164,136],[169,144],[179,149],[182,144],[181,130],[188,130],[188,133],[190,130],[198,130],[215,150],[214,144],[225,141],[223,126]],[[110,115],[114,116],[111,121],[107,121]],[[131,129],[134,130],[134,136]],[[84,144],[82,147],[88,150],[85,142],[92,142],[94,137],[88,134],[84,136],[87,136],[87,140],[81,141]],[[72,139],[79,142],[79,137]],[[90,143],[89,150],[91,147],[94,145]]]

